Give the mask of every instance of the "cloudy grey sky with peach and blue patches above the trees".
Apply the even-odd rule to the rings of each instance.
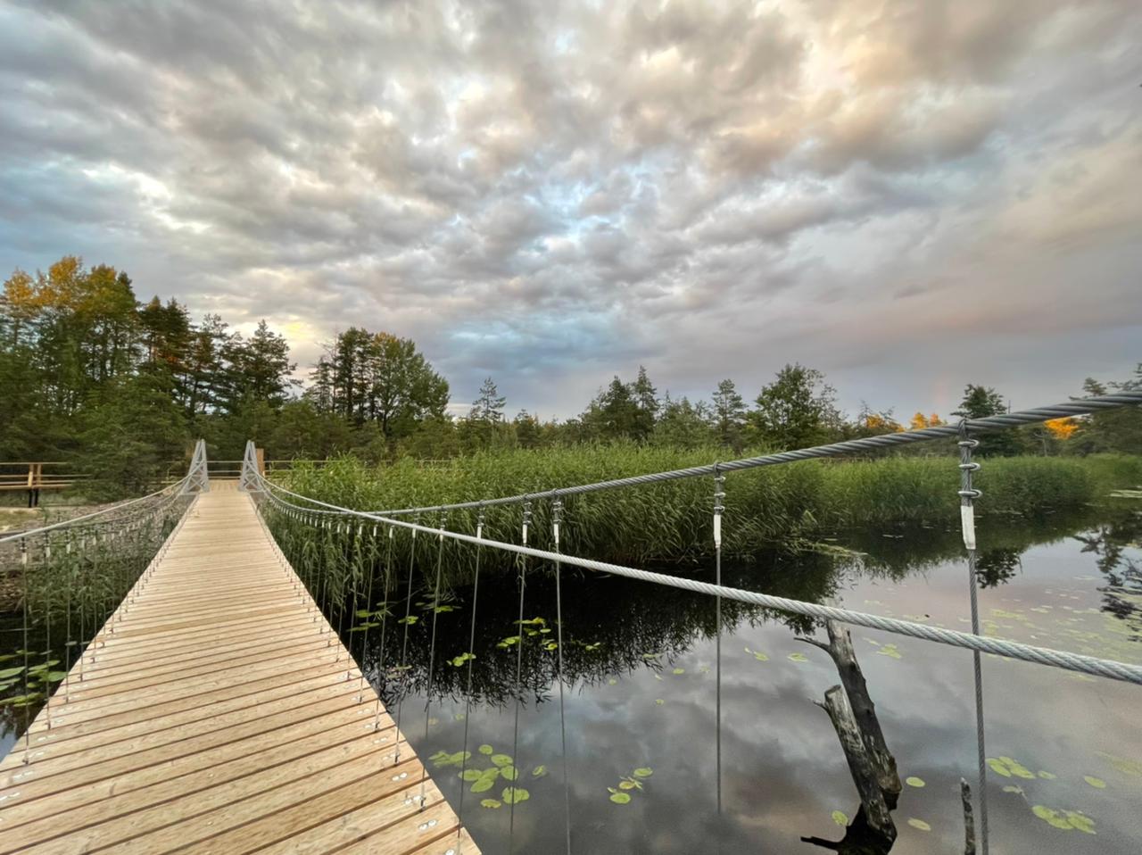
[[[568,416],[643,363],[1015,407],[1142,360],[1142,5],[5,2],[0,273]]]

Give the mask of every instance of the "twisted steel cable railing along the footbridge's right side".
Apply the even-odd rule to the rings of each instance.
[[[975,525],[974,525],[974,502],[982,494],[972,486],[972,474],[980,468],[980,464],[975,463],[972,460],[972,449],[979,444],[978,440],[974,439],[974,436],[979,433],[987,433],[990,431],[1011,429],[1020,425],[1042,423],[1060,417],[1081,416],[1091,413],[1116,409],[1120,407],[1136,407],[1139,405],[1142,405],[1142,391],[1126,391],[1112,395],[1099,395],[1094,398],[1087,398],[1087,399],[1053,405],[1049,407],[1042,407],[1031,410],[1021,410],[1018,413],[1010,413],[998,416],[989,416],[986,418],[963,419],[956,425],[924,428],[919,430],[883,434],[866,439],[836,442],[826,446],[817,446],[813,448],[763,455],[759,457],[748,457],[737,461],[729,461],[724,463],[723,462],[711,463],[705,466],[692,466],[682,470],[656,472],[645,476],[598,481],[594,484],[554,487],[541,492],[518,494],[514,496],[486,497],[468,502],[458,502],[458,503],[439,504],[439,505],[424,505],[419,508],[403,508],[403,509],[394,509],[386,511],[362,511],[362,510],[344,508],[340,505],[336,505],[329,502],[323,502],[320,500],[312,498],[309,496],[295,493],[281,485],[274,484],[273,481],[271,481],[265,477],[265,473],[262,471],[262,468],[257,465],[256,450],[251,441],[247,444],[246,454],[243,456],[240,489],[260,495],[260,497],[265,501],[265,503],[267,504],[268,509],[272,512],[284,514],[289,519],[312,526],[315,529],[323,528],[328,530],[332,527],[333,522],[337,521],[338,532],[341,530],[343,525],[345,527],[345,530],[349,532],[352,530],[353,524],[355,521],[357,535],[361,535],[363,533],[364,526],[368,525],[372,527],[373,536],[376,536],[378,527],[384,527],[388,532],[388,537],[392,537],[392,535],[396,530],[405,530],[409,532],[410,536],[413,538],[418,534],[433,538],[439,538],[441,544],[439,554],[441,558],[443,557],[443,542],[445,538],[449,538],[451,541],[467,543],[475,546],[477,549],[477,556],[480,554],[478,553],[480,549],[489,548],[508,553],[514,553],[516,556],[525,558],[538,559],[541,561],[550,562],[555,568],[556,626],[558,628],[558,631],[561,633],[556,641],[557,649],[560,650],[560,668],[556,673],[556,680],[558,681],[560,697],[561,697],[561,705],[560,705],[561,728],[565,727],[563,720],[563,709],[562,709],[562,692],[563,692],[562,614],[561,614],[561,605],[558,597],[560,569],[563,565],[571,565],[587,570],[606,573],[617,576],[625,576],[628,578],[651,582],[660,585],[668,585],[671,588],[683,589],[686,591],[692,591],[695,593],[701,593],[705,596],[716,598],[718,604],[717,626],[716,626],[716,633],[718,640],[718,652],[717,652],[718,734],[721,734],[721,638],[722,638],[721,600],[723,598],[737,600],[754,606],[761,606],[764,608],[777,609],[796,615],[803,615],[815,620],[866,626],[870,629],[883,630],[885,632],[909,636],[912,638],[919,638],[943,645],[950,645],[954,647],[970,649],[973,652],[974,686],[976,695],[976,729],[978,729],[976,800],[979,805],[979,817],[980,817],[980,839],[982,844],[981,852],[983,853],[983,855],[987,855],[988,812],[987,812],[987,798],[986,798],[984,720],[983,720],[983,694],[982,694],[981,666],[979,658],[980,654],[989,653],[997,656],[1020,660],[1035,664],[1061,668],[1068,671],[1093,674],[1115,680],[1123,680],[1134,685],[1142,685],[1142,666],[1133,665],[1125,662],[1119,662],[1116,660],[1084,656],[1065,650],[1055,650],[1043,647],[1035,647],[1030,645],[1019,644],[1015,641],[1010,641],[1006,639],[997,639],[981,634],[979,614],[976,607],[976,577],[975,577],[976,541],[975,541]],[[879,615],[861,613],[851,609],[842,609],[833,606],[823,606],[817,602],[807,602],[803,600],[773,597],[770,594],[727,588],[721,584],[722,513],[724,511],[723,502],[726,495],[724,492],[724,484],[726,481],[727,473],[758,469],[763,466],[781,465],[785,463],[794,463],[806,460],[833,458],[845,455],[859,454],[868,450],[892,448],[895,446],[904,446],[917,442],[930,442],[933,440],[949,439],[949,438],[955,439],[957,441],[957,446],[960,450],[960,461],[959,461],[960,480],[956,486],[958,487],[957,494],[959,496],[962,505],[960,525],[963,529],[965,552],[967,556],[967,569],[970,578],[968,590],[971,594],[971,614],[972,614],[971,633],[956,632],[952,630],[930,626],[927,624],[918,622],[887,618],[887,617],[882,617]],[[708,477],[713,479],[711,537],[715,545],[715,560],[717,567],[717,575],[714,584],[691,578],[669,576],[660,573],[652,573],[635,567],[627,567],[605,561],[596,561],[588,558],[566,554],[561,551],[560,527],[564,513],[563,509],[564,498],[587,493],[596,493],[601,490],[640,487],[652,484],[659,484],[664,481],[673,481],[678,479],[699,478],[699,477]],[[553,526],[552,542],[554,543],[555,546],[554,550],[536,549],[534,546],[528,545],[529,525],[531,522],[531,517],[532,517],[531,509],[536,502],[547,502],[550,504],[552,509],[550,520]],[[484,513],[486,509],[500,505],[513,505],[513,504],[523,505],[523,518],[522,518],[522,530],[521,530],[520,543],[491,541],[484,537],[482,529],[484,524]],[[447,514],[449,511],[453,510],[476,510],[478,512],[478,516],[476,517],[475,530],[473,533],[466,534],[461,532],[449,530],[447,528],[445,524]],[[431,527],[420,525],[418,521],[409,522],[405,520],[397,519],[397,517],[402,516],[415,514],[419,517],[420,514],[425,513],[439,514],[439,525],[436,527]],[[410,559],[410,561],[412,559]],[[476,585],[478,584],[478,573],[480,573],[478,567],[480,566],[477,560],[476,578],[474,582],[474,584]],[[525,570],[521,572],[520,575],[521,621],[523,618],[524,574]],[[473,598],[473,602],[475,602],[475,598]],[[440,561],[437,561],[437,568],[436,568],[436,592],[433,600],[434,614],[435,609],[439,608],[439,606],[440,606]],[[409,618],[410,615],[405,614],[404,621],[407,622]],[[472,615],[473,638],[475,633],[475,621],[476,621],[475,606],[473,606],[473,615]],[[435,621],[433,622],[433,626],[435,628]],[[433,631],[435,632],[435,629]],[[433,640],[433,647],[434,646],[435,646],[435,636]],[[401,666],[403,668],[404,663],[402,663]],[[469,662],[469,669],[471,669],[471,662]],[[469,670],[469,679],[471,679],[471,670]],[[429,698],[431,698],[431,680],[432,680],[432,663],[429,663],[429,689],[428,689]],[[518,706],[516,714],[518,716]],[[397,717],[399,716],[400,711],[397,712]],[[427,716],[427,709],[426,709],[426,716]],[[465,749],[466,748],[467,746],[465,745]],[[564,774],[565,774],[565,768],[566,768],[565,737],[564,737],[563,759],[564,759]],[[718,768],[721,768],[721,740],[718,741]],[[564,788],[566,789],[565,780],[564,780]],[[970,807],[970,792],[966,790],[966,783],[965,783],[965,793],[966,793],[964,797],[965,806]],[[566,798],[566,792],[565,792],[565,798]],[[862,794],[862,802],[863,802],[863,794]],[[514,802],[513,802],[513,808],[514,808]],[[719,799],[719,813],[721,813],[721,799]],[[965,817],[970,815],[971,815],[970,810],[965,810]],[[570,809],[568,809],[566,823],[568,823],[568,852],[570,853]]]

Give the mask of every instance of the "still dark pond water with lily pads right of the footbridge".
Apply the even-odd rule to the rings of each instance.
[[[1018,521],[986,520],[980,538],[987,630],[1142,662],[1142,526],[1127,508],[1107,519],[1079,530],[1062,524],[1049,535],[1024,530],[1015,536]],[[1007,540],[989,550],[989,536],[997,542],[1002,530]],[[926,558],[916,536],[842,536],[838,543],[868,556],[771,557],[724,570],[724,578],[751,590],[833,597],[859,610],[965,629],[964,562],[940,558],[958,551],[956,534],[917,536],[930,541]],[[1044,537],[1048,542],[1027,545]],[[423,604],[419,612],[413,605],[420,620],[409,628],[416,688],[403,704],[395,682],[385,690],[391,712],[401,716],[453,807],[464,790],[464,822],[485,853],[507,852],[509,844],[518,853],[565,847],[555,653],[542,649],[554,632],[541,632],[554,626],[555,593],[549,576],[534,567],[528,578],[524,617],[546,623],[530,624],[534,636],[524,631],[525,690],[517,727],[517,648],[497,646],[520,634],[514,578],[481,585],[469,703],[466,666],[444,660],[468,649],[471,589],[453,591],[448,605],[455,610],[437,615],[427,737],[431,591],[417,589],[412,596],[413,604]],[[404,593],[392,597],[399,614]],[[813,703],[838,682],[837,672],[825,652],[795,640],[787,618],[723,604],[718,820],[713,601],[564,570],[563,602],[566,670],[573,676],[564,703],[574,852],[700,853],[716,850],[721,840],[724,852],[811,853],[821,849],[801,838],[844,837],[843,825],[860,802],[829,717]],[[393,629],[385,660],[396,665],[404,628],[395,626],[395,634]],[[360,648],[362,633],[353,634]],[[823,638],[823,631],[817,634]],[[891,852],[962,853],[959,780],[974,788],[976,776],[971,654],[875,631],[856,629],[852,636],[888,748],[901,778],[909,778],[893,813],[899,837]],[[373,629],[364,657],[371,671],[379,654]],[[1014,761],[997,760],[1007,775],[988,773],[992,852],[1139,852],[1142,687],[989,656],[983,668],[988,756]],[[465,748],[472,752],[468,777],[475,778],[468,783],[459,777]],[[528,792],[514,816],[505,801],[509,782],[489,772],[508,762]],[[629,789],[622,789],[625,780]],[[629,801],[616,804],[612,790]]]

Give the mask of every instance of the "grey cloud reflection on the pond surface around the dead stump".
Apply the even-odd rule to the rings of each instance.
[[[1024,573],[1010,584],[981,593],[984,615],[991,608],[1029,607],[1043,589],[1067,581],[1081,589],[1075,607],[1097,605],[1099,580],[1093,559],[1072,542],[1042,546],[1024,556]],[[940,565],[925,576],[902,583],[858,581],[845,592],[846,605],[877,610],[879,600],[894,614],[930,614],[932,622],[955,629],[966,616],[964,566]],[[1087,576],[1076,581],[1075,576]],[[891,590],[890,590],[891,589]],[[890,749],[901,776],[916,775],[923,789],[906,786],[894,814],[900,837],[893,855],[963,849],[963,815],[958,784],[975,781],[975,726],[971,654],[920,640],[890,638],[855,629],[854,646]],[[870,638],[896,644],[902,658],[877,654]],[[1055,645],[1062,646],[1062,645]],[[763,650],[758,662],[743,648]],[[790,653],[809,662],[795,663]],[[574,850],[590,853],[710,852],[714,839],[716,769],[714,756],[714,644],[695,642],[677,663],[661,672],[650,669],[604,680],[568,696],[571,756],[571,801]],[[685,668],[674,676],[674,664]],[[802,836],[839,839],[844,830],[830,813],[853,816],[859,800],[828,716],[813,705],[837,676],[825,653],[801,645],[785,626],[743,624],[723,640],[722,786],[726,850],[820,852]],[[1097,751],[1136,754],[1139,726],[1133,710],[1139,689],[1123,684],[1078,680],[1055,669],[984,657],[988,748],[992,756],[1015,757],[1032,770],[1055,774],[1053,781],[1011,781],[989,773],[991,838],[995,852],[1044,855],[1053,852],[1133,853],[1142,832],[1142,778],[1116,775]],[[658,705],[657,698],[664,704]],[[500,740],[510,744],[513,712],[486,711],[473,717],[473,744]],[[460,725],[448,722],[448,736],[434,734],[432,746],[456,750]],[[529,710],[521,718],[520,762],[552,767],[537,782],[532,800],[516,813],[516,852],[562,852],[563,807],[557,704]],[[608,801],[608,786],[637,766],[654,775],[632,802]],[[1083,775],[1110,784],[1094,790]],[[1004,793],[1020,783],[1028,800]],[[452,791],[453,794],[455,786]],[[496,841],[507,832],[507,808],[486,810],[480,797],[466,797],[466,820],[475,806],[477,841]],[[453,796],[455,799],[455,796]],[[1053,829],[1032,816],[1030,805],[1080,809],[1095,821],[1097,837]],[[932,826],[907,825],[909,817]],[[526,841],[523,844],[523,841]],[[523,844],[521,847],[520,844]]]

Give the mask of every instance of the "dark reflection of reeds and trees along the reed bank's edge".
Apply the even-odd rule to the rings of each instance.
[[[1073,525],[1073,519],[1061,519],[1061,516],[1046,522],[1030,525],[1021,521],[1006,528],[998,522],[1008,524],[1010,517],[996,519],[996,532],[989,533],[989,541],[995,545],[981,550],[979,558],[980,583],[988,588],[1005,584],[1012,578],[1019,570],[1022,551],[1030,545],[1060,540],[1075,530],[1069,527]],[[283,540],[288,543],[290,538]],[[901,578],[918,569],[963,557],[960,535],[951,529],[912,529],[893,537],[884,537],[876,532],[853,532],[845,533],[839,540],[862,554],[772,550],[758,554],[753,562],[723,568],[723,582],[734,588],[821,602],[836,592],[842,576],[853,570],[870,576]],[[301,558],[301,561],[305,560]],[[329,566],[325,561],[321,564]],[[357,560],[359,568],[361,564]],[[383,556],[375,550],[365,556],[363,564],[363,570],[341,573],[343,584],[329,586],[328,581],[323,584],[319,593],[323,594],[327,612],[332,623],[340,626],[346,644],[386,701],[394,701],[402,693],[423,694],[427,690],[432,644],[433,592],[429,580],[433,567],[418,567],[413,573],[412,614],[418,620],[408,628],[399,623],[404,616],[408,569],[402,566],[393,568],[388,593],[391,614],[384,632],[383,652],[380,626],[371,628],[368,633],[349,632],[352,621],[339,616],[341,610],[352,610],[349,604],[355,602],[363,608],[369,573],[376,574],[373,605],[385,599]],[[670,566],[665,572],[711,581],[711,574],[697,566],[692,566],[691,573],[678,566]],[[467,666],[463,663],[455,666],[450,661],[469,653],[471,598],[472,586],[466,583],[452,586],[442,598],[451,610],[436,615],[434,701],[461,698],[466,692]],[[715,628],[715,600],[710,597],[622,577],[600,576],[571,567],[563,568],[563,609],[566,677],[587,685],[613,674],[668,663],[689,650],[695,640],[711,638]],[[497,647],[515,636],[521,636],[523,642],[522,690],[537,702],[548,697],[555,679],[556,654],[554,649],[544,649],[544,644],[554,640],[554,632],[540,633],[537,625],[531,628],[536,634],[529,636],[526,629],[521,632],[516,626],[517,617],[517,576],[499,573],[483,576],[475,649],[471,650],[475,654],[474,702],[502,704],[516,696],[515,647]],[[541,617],[546,621],[545,626],[554,630],[555,588],[550,567],[534,564],[529,567],[524,617]],[[749,624],[778,621],[798,632],[809,631],[813,625],[804,617],[730,600],[723,601],[723,621],[730,631],[743,621]],[[408,655],[402,663],[405,629]],[[402,664],[407,668],[397,670]]]

